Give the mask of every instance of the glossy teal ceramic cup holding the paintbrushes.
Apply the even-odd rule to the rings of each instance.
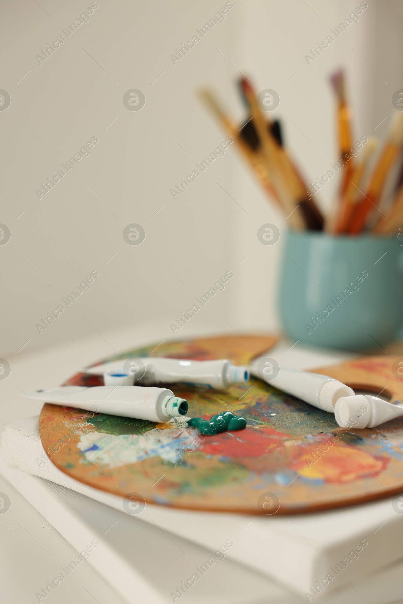
[[[397,238],[289,231],[280,316],[301,344],[382,352],[403,326],[403,246]]]

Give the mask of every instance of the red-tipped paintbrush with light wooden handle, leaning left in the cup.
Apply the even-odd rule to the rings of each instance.
[[[301,182],[301,178],[285,149],[279,145],[273,136],[271,122],[269,122],[268,129],[251,83],[246,78],[242,78],[240,86],[243,97],[248,103],[263,155],[268,162],[268,171],[272,184],[277,189],[283,204],[290,212],[289,217],[294,216],[294,213],[297,214],[292,219],[292,222],[296,225],[294,228],[303,228],[305,226],[309,230],[322,230],[323,216],[314,202],[308,198],[306,188],[303,182]],[[302,227],[301,224],[303,225]]]

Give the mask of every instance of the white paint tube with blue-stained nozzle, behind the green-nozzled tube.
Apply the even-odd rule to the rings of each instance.
[[[227,359],[192,361],[163,357],[126,358],[85,367],[83,373],[103,376],[105,385],[187,384],[211,390],[228,390],[233,384],[245,384],[247,367],[233,365]]]

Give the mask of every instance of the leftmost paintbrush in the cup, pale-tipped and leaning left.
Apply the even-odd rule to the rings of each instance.
[[[277,202],[277,205],[279,205],[284,211],[284,207],[279,199],[279,196],[277,195],[277,191],[274,189],[274,187],[272,187],[270,182],[265,159],[263,158],[262,153],[253,150],[250,144],[245,141],[245,137],[242,137],[240,133],[242,128],[238,129],[235,126],[234,122],[230,117],[228,117],[227,113],[225,113],[224,109],[222,109],[216,97],[214,97],[210,91],[205,89],[199,91],[199,97],[207,109],[214,115],[214,117],[218,119],[225,132],[227,132],[228,135],[233,138],[238,149],[242,153],[243,158],[246,159],[251,169],[256,174],[266,193],[268,193],[271,198],[274,198]]]

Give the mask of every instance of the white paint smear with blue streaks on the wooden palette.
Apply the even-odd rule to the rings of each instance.
[[[80,433],[79,433],[80,434]],[[108,467],[124,466],[150,457],[161,457],[176,463],[182,460],[186,450],[197,448],[198,432],[190,428],[153,428],[144,434],[80,434],[80,451],[85,454],[83,463],[101,464]]]

